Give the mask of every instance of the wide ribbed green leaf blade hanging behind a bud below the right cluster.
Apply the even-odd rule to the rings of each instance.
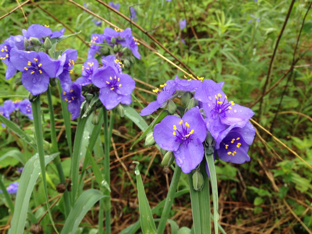
[[[190,186],[192,214],[194,233],[196,234],[210,234],[210,196],[209,196],[209,179],[206,172],[206,160],[200,164],[200,172],[204,178],[204,186],[201,191],[195,191],[193,188],[192,173],[188,173],[188,183]]]

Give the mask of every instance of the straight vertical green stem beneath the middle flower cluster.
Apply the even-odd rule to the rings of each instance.
[[[103,114],[104,114],[104,178],[108,185],[110,186],[110,132],[108,130],[108,113],[106,108],[103,106]],[[111,124],[112,125],[112,124]],[[105,228],[106,234],[110,234],[111,227],[110,227],[110,209],[111,209],[111,202],[110,202],[110,192],[105,190],[104,195],[108,197],[105,198],[104,202],[104,210],[105,210]]]

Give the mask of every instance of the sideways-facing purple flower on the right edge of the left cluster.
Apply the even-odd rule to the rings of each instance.
[[[71,85],[71,73],[73,73],[73,66],[75,65],[75,61],[77,59],[77,51],[74,49],[67,49],[62,54],[61,58],[61,66],[63,66],[63,71],[58,76],[61,81],[62,89],[68,90]]]

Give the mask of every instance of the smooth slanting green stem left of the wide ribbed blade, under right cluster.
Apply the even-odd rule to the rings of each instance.
[[[181,168],[178,165],[176,165],[174,169],[173,177],[170,183],[169,191],[166,197],[165,206],[163,207],[163,212],[161,214],[160,221],[158,224],[157,234],[163,234],[163,232],[165,231],[167,219],[169,217],[169,212],[171,210],[171,206],[174,200],[174,195],[177,191],[181,172],[182,172]]]

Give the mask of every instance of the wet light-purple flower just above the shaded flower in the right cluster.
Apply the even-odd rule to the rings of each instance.
[[[222,83],[204,80],[195,92],[195,98],[202,102],[206,113],[206,125],[215,139],[230,127],[244,127],[255,114],[251,109],[227,100],[221,87]]]

